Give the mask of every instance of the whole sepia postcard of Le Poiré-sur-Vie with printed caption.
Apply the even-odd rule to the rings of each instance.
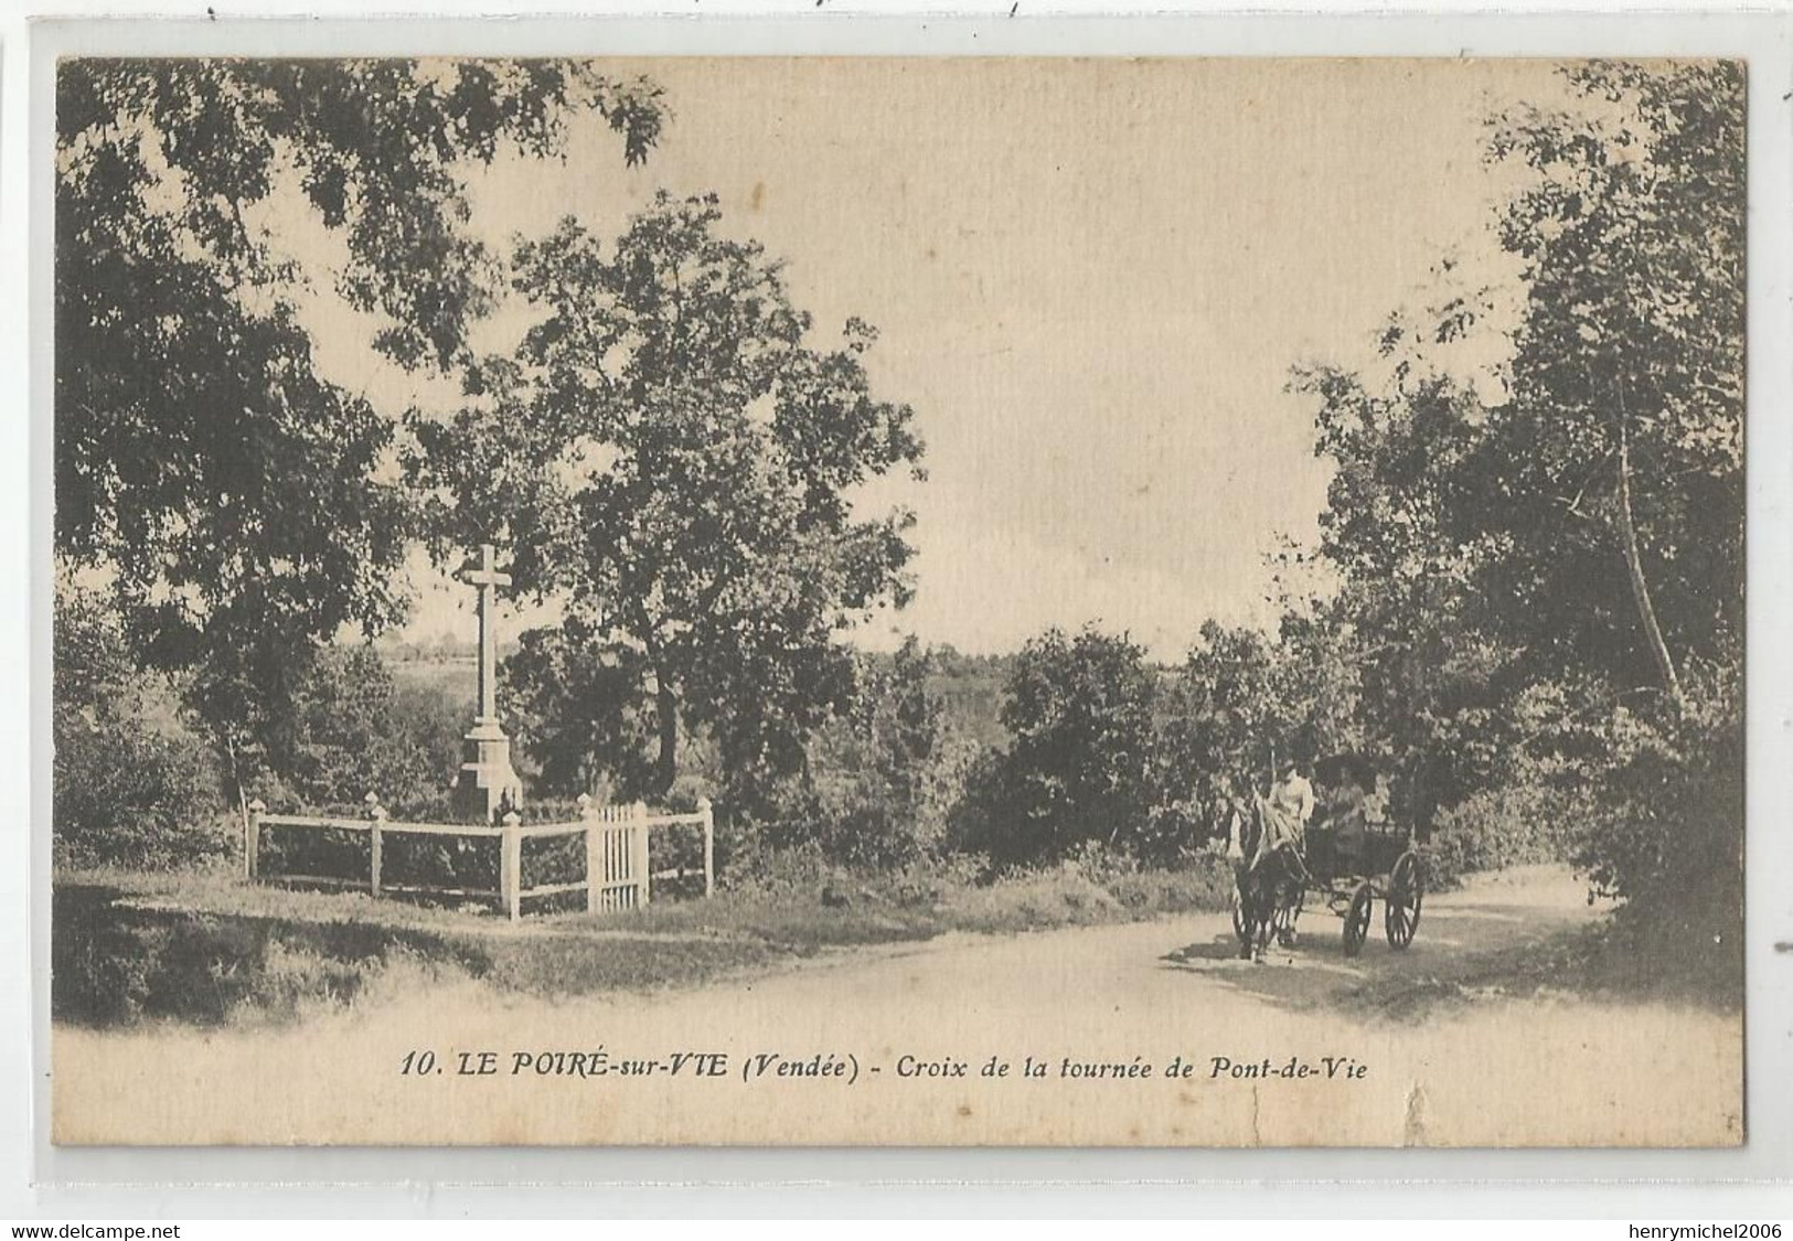
[[[1737,1146],[1745,65],[56,65],[59,1144]]]

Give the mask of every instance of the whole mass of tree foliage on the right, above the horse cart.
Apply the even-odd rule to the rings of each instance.
[[[1314,366],[1293,386],[1336,464],[1330,619],[1356,642],[1363,728],[1400,764],[1408,812],[1565,807],[1596,884],[1635,895],[1673,866],[1666,825],[1725,803],[1727,780],[1741,789],[1727,737],[1741,719],[1743,74],[1585,63],[1563,77],[1571,104],[1490,122],[1490,158],[1528,169],[1495,221],[1522,265],[1506,391],[1485,396],[1436,353],[1477,330],[1490,291],[1391,321],[1384,380]],[[1734,870],[1736,850],[1702,837],[1689,861]]]

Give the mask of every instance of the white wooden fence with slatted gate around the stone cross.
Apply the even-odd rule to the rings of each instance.
[[[640,909],[653,897],[654,879],[685,879],[697,872],[678,866],[654,870],[653,832],[665,827],[703,829],[703,895],[715,895],[715,814],[710,798],[697,798],[694,814],[649,814],[640,802],[628,805],[595,805],[579,798],[579,818],[570,823],[524,823],[513,811],[502,825],[479,823],[396,823],[380,800],[368,794],[368,818],[269,814],[260,800],[249,803],[244,820],[244,875],[255,881],[285,881],[326,884],[335,888],[366,888],[375,897],[385,893],[432,893],[439,897],[495,897],[511,922],[524,913],[524,900],[554,897],[565,891],[583,891],[590,913],[610,909]],[[325,829],[368,832],[368,877],[273,873],[262,866],[264,829]],[[565,884],[536,884],[524,888],[524,841],[556,836],[585,836],[585,879]],[[391,884],[384,881],[382,863],[389,836],[459,836],[498,839],[498,888],[437,888],[425,884]]]

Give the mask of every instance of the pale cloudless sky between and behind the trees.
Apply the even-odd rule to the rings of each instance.
[[[647,165],[581,126],[565,161],[475,174],[475,228],[613,237],[658,188],[714,192],[724,230],[787,260],[819,339],[880,330],[868,369],[914,407],[929,477],[861,497],[916,511],[918,590],[855,640],[995,653],[1096,622],[1160,658],[1207,617],[1266,620],[1264,554],[1316,534],[1329,472],[1291,366],[1366,362],[1445,253],[1511,280],[1483,118],[1555,84],[1538,61],[599,65],[665,88]],[[339,382],[452,400],[377,359],[364,316],[312,314]],[[479,344],[522,321],[506,307]],[[472,590],[412,581],[407,637],[470,633]]]

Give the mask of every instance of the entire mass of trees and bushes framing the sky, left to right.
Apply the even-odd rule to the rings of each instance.
[[[563,604],[502,678],[547,794],[665,796],[697,751],[762,843],[836,863],[1173,857],[1271,755],[1348,750],[1463,864],[1558,848],[1560,821],[1603,891],[1734,907],[1743,74],[1563,81],[1562,106],[1488,126],[1522,174],[1490,233],[1520,264],[1501,389],[1449,364],[1503,298],[1449,285],[1451,262],[1377,368],[1291,378],[1334,466],[1336,588],[1286,595],[1268,633],[1203,626],[1176,669],[1094,629],[966,664],[972,698],[1006,678],[997,719],[941,696],[948,656],[843,642],[909,595],[913,518],[862,497],[923,456],[873,395],[870,326],[818,339],[712,197],[660,195],[615,242],[473,237],[470,169],[552,156],[592,109],[638,161],[651,86],[561,61],[65,65],[56,551],[108,601],[57,599],[59,857],[204,855],[251,784],[427,800],[452,726],[371,649],[328,646],[400,612],[423,536],[441,560],[504,542],[520,588]],[[280,251],[287,199],[339,271]],[[301,314],[323,278],[393,360],[459,371],[463,407],[396,425],[323,375]],[[511,294],[518,348],[473,355]],[[1002,737],[968,777],[952,712]]]

